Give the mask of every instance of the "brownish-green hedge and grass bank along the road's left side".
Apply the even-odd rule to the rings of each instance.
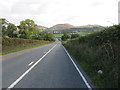
[[[18,38],[3,38],[2,39],[2,52],[0,54],[13,53],[25,49],[43,46],[52,43],[51,41],[43,40],[30,40],[30,39],[18,39]]]

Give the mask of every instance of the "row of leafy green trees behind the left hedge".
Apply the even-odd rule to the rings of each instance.
[[[20,22],[20,25],[15,26],[4,18],[0,19],[2,26],[3,38],[23,38],[54,41],[52,33],[42,33],[37,24],[33,20],[26,19]]]

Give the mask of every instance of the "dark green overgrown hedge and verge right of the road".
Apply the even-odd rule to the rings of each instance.
[[[120,25],[69,40],[63,45],[99,88],[118,88]],[[98,74],[98,71],[102,71]]]

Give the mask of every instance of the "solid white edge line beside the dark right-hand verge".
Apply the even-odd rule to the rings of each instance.
[[[83,76],[83,74],[81,73],[81,71],[79,70],[79,68],[77,67],[77,65],[75,64],[75,62],[73,61],[73,59],[71,58],[70,54],[68,53],[68,51],[65,49],[65,47],[63,46],[65,52],[67,53],[68,57],[70,58],[70,60],[72,61],[73,65],[75,66],[75,68],[77,69],[78,73],[80,74],[80,76],[82,77],[83,81],[85,82],[86,86],[89,88],[89,90],[92,90],[91,86],[89,85],[89,83],[87,82],[87,80],[85,79],[85,77]]]

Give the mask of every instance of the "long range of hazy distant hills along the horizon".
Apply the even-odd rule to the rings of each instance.
[[[91,32],[94,30],[101,30],[103,28],[105,27],[100,25],[73,26],[70,24],[57,24],[51,28],[46,29],[45,32],[51,33]]]

